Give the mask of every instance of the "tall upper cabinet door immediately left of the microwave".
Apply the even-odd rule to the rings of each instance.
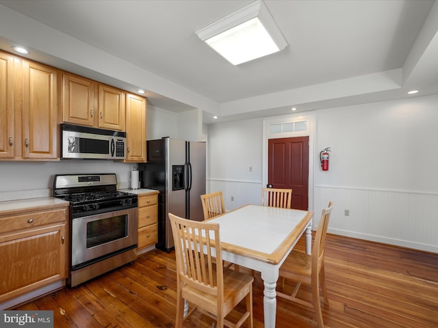
[[[57,158],[57,70],[23,61],[23,158]]]

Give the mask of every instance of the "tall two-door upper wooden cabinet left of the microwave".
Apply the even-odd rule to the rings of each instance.
[[[0,52],[0,158],[57,159],[55,68]]]

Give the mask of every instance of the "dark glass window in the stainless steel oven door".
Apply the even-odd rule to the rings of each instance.
[[[128,216],[118,215],[87,223],[87,248],[125,238],[128,235]]]

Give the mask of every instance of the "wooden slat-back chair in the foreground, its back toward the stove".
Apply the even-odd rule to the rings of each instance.
[[[196,309],[215,318],[218,328],[253,327],[253,281],[250,275],[222,266],[219,223],[183,219],[169,213],[177,257],[177,317],[175,327]],[[216,256],[216,263],[214,263]],[[243,299],[246,312],[237,323],[225,316]],[[192,306],[183,318],[184,300]],[[241,312],[242,313],[242,312]]]

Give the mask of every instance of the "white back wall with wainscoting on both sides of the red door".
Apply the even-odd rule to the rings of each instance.
[[[332,152],[329,172],[313,163],[315,221],[333,200],[329,232],[438,252],[437,108],[434,95],[317,111],[315,148]],[[261,120],[209,126],[208,191],[227,210],[259,202],[261,145]]]

